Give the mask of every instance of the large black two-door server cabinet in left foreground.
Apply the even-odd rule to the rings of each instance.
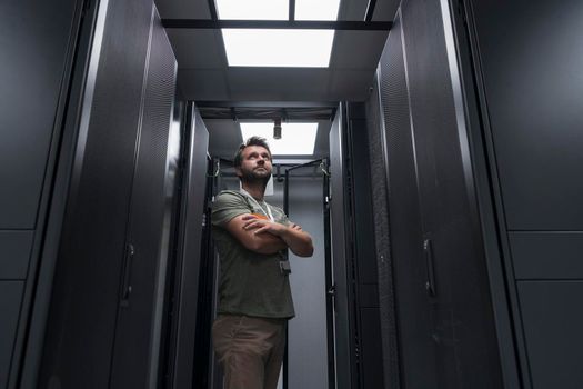
[[[151,1],[102,6],[34,387],[143,387],[158,370],[177,66]]]

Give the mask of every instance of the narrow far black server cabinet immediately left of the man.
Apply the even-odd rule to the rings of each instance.
[[[180,221],[177,237],[177,262],[173,277],[172,338],[170,343],[168,385],[191,388],[208,377],[208,352],[212,318],[212,242],[209,239],[212,187],[208,174],[209,131],[194,103],[187,104],[187,143],[183,156]],[[211,246],[211,248],[209,248]],[[211,291],[209,290],[211,289]],[[208,300],[211,299],[211,301]],[[205,321],[207,320],[207,321]],[[203,360],[200,362],[200,360]]]

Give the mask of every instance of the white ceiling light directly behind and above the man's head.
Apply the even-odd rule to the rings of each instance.
[[[282,123],[281,139],[273,139],[273,123],[241,123],[243,141],[265,138],[273,156],[312,156],[316,132],[318,123]]]

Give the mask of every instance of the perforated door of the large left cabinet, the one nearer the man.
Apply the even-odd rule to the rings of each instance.
[[[177,62],[158,13],[151,33],[128,235],[134,250],[127,276],[131,295],[118,316],[111,388],[148,386],[150,358],[155,358],[150,350],[157,349],[152,333],[158,275],[164,272],[168,255],[161,252],[161,242],[169,233],[164,229],[167,154]]]

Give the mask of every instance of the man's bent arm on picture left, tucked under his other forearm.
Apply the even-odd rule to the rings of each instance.
[[[288,248],[287,242],[274,235],[255,233],[253,230],[245,229],[247,220],[250,219],[255,219],[255,217],[245,213],[232,218],[225,226],[227,231],[248,250],[258,253],[271,255]]]

